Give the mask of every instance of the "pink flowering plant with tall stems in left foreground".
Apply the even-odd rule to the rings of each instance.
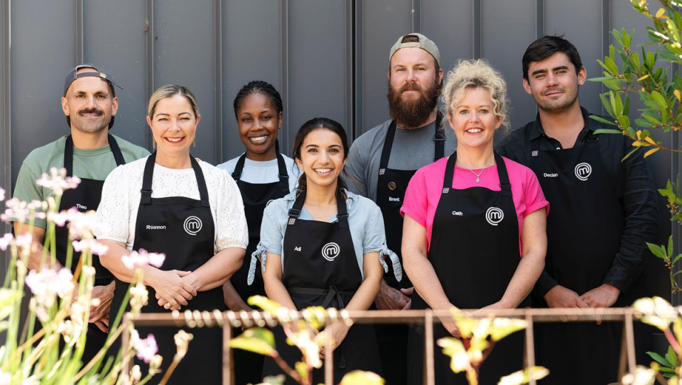
[[[53,195],[42,202],[9,199],[4,213],[0,214],[6,223],[28,224],[21,235],[7,233],[0,238],[0,250],[9,257],[9,269],[0,289],[0,333],[6,340],[0,347],[0,385],[144,384],[160,372],[162,358],[157,354],[153,335],[142,339],[131,326],[121,325],[124,306],[109,324],[110,332],[102,350],[90,362],[82,362],[91,306],[99,306],[99,298],[92,298],[95,275],[92,258],[104,255],[107,246],[94,238],[97,223],[94,211],[59,210],[64,191],[77,187],[80,179],[67,178],[65,169],[51,169],[50,174],[43,174],[36,183],[52,190]],[[4,195],[5,191],[0,189],[0,200],[4,200]],[[36,218],[47,221],[43,244],[32,237]],[[56,260],[55,228],[66,225],[72,242],[68,242],[65,265],[61,266]],[[80,259],[72,269],[74,251],[80,252]],[[131,264],[136,274],[124,304],[130,302],[133,313],[139,313],[148,297],[146,287],[141,284],[141,267],[159,265],[163,258],[144,250],[127,257],[126,264]],[[24,286],[30,289],[31,297],[26,322],[20,322]],[[109,347],[126,327],[131,333],[129,350],[107,355]],[[187,349],[186,342],[183,349]],[[138,366],[129,373],[122,370],[134,355],[149,364],[144,379]],[[167,372],[166,381],[168,376]]]

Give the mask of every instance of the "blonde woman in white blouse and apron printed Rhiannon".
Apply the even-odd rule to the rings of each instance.
[[[104,182],[97,238],[109,246],[102,264],[116,277],[114,314],[134,274],[121,258],[141,249],[166,254],[160,268],[145,267],[149,303],[144,313],[225,308],[222,285],[242,265],[247,223],[234,180],[190,155],[200,119],[189,89],[169,85],[156,90],[147,116],[156,151],[114,169]],[[176,331],[139,328],[142,336],[155,335],[164,369],[175,355]],[[194,338],[188,355],[169,384],[220,384],[220,329],[195,328],[190,333]]]

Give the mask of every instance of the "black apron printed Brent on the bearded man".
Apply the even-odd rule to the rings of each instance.
[[[439,160],[445,155],[445,133],[440,128],[443,115],[439,112],[435,118],[435,135],[433,136],[433,161]],[[386,245],[398,255],[400,263],[403,263],[401,245],[403,242],[403,216],[400,208],[403,206],[405,191],[416,169],[389,169],[389,158],[393,148],[393,139],[396,136],[396,121],[391,121],[389,130],[386,132],[384,147],[381,150],[379,161],[379,179],[377,182],[377,206],[381,208],[384,216],[384,228],[386,229]],[[406,154],[409,156],[408,154]],[[410,279],[403,274],[399,282],[394,274],[393,264],[389,264],[389,271],[384,273],[384,281],[394,289],[407,289],[412,287]],[[372,309],[376,309],[372,305]],[[407,334],[408,326],[401,324],[377,324],[374,326],[379,341],[379,355],[381,366],[386,375],[386,385],[406,385],[407,363]]]

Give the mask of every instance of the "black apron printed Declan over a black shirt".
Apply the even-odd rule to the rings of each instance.
[[[540,150],[531,141],[529,167],[552,208],[547,218],[545,271],[583,295],[601,286],[619,251],[623,203],[599,152],[598,136],[564,150]],[[534,307],[546,307],[533,298]],[[620,296],[614,306],[629,306]],[[536,323],[536,360],[549,369],[541,384],[604,385],[617,381],[622,324]],[[561,347],[561,349],[557,349]]]

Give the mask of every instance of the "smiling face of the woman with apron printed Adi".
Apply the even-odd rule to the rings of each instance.
[[[332,186],[346,164],[343,142],[339,135],[326,128],[310,131],[301,145],[301,159],[296,159],[310,185]]]

